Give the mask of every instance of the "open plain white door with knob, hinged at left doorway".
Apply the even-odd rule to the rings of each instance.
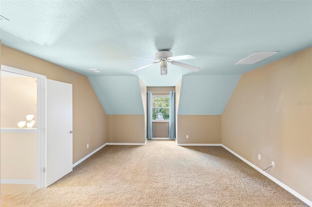
[[[47,79],[46,97],[45,187],[48,187],[73,170],[72,85]]]

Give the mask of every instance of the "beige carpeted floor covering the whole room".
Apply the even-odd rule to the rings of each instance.
[[[46,189],[1,185],[3,207],[307,207],[222,147],[105,146]]]

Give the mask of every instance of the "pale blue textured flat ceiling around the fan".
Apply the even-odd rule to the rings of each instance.
[[[175,86],[182,75],[242,74],[312,46],[312,1],[0,0],[1,43],[87,76],[137,75],[147,86]],[[192,54],[135,73],[158,50]],[[279,51],[234,65],[255,51]],[[97,68],[102,73],[88,71]]]

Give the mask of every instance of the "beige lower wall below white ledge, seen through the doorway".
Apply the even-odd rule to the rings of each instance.
[[[1,133],[1,179],[36,180],[36,133]]]

